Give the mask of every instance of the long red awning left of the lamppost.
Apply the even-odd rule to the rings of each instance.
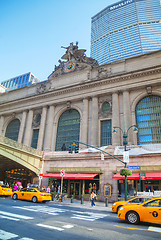
[[[65,173],[64,179],[93,179],[98,173]],[[46,178],[62,178],[60,173],[46,173]]]

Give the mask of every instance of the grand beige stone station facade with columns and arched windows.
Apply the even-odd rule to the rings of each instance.
[[[37,165],[42,185],[57,189],[63,169],[63,191],[69,197],[88,198],[93,189],[100,200],[115,201],[124,196],[119,173],[124,164],[113,156],[123,160],[126,132],[132,169],[128,195],[161,190],[160,59],[156,51],[99,66],[71,43],[48,80],[0,94],[0,135],[43,153]],[[74,140],[84,144],[71,154]],[[88,145],[103,147],[107,154]],[[0,170],[9,182],[9,171],[23,168],[22,161],[11,162]],[[38,183],[38,171],[25,168],[28,181]]]

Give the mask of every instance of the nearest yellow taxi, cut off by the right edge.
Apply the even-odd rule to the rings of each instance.
[[[161,198],[153,198],[142,204],[122,206],[118,211],[118,218],[131,224],[139,222],[161,224]]]

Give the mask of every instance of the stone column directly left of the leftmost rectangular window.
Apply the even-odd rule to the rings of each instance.
[[[24,145],[30,146],[31,134],[32,134],[32,120],[33,120],[33,110],[29,110],[26,121],[26,129],[24,135]]]

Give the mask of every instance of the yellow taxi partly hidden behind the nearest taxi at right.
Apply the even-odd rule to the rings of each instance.
[[[125,204],[136,204],[136,203],[143,203],[146,202],[147,200],[150,200],[152,197],[134,197],[129,199],[128,201],[118,201],[115,202],[112,205],[112,211],[118,213],[118,210],[120,209],[120,207],[124,206]]]

